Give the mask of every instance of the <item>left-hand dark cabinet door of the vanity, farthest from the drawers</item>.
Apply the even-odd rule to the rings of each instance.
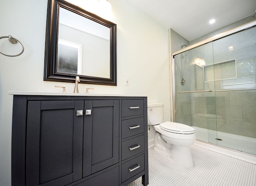
[[[28,101],[26,185],[66,185],[82,178],[84,101]]]

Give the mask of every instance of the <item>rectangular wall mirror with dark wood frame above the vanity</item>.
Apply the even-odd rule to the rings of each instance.
[[[116,86],[116,24],[48,0],[44,80]]]

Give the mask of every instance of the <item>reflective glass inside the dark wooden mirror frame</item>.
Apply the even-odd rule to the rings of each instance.
[[[110,78],[110,29],[60,7],[57,72]]]

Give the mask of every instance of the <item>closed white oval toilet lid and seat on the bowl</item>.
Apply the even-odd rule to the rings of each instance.
[[[192,134],[195,132],[195,129],[188,125],[184,125],[182,123],[174,123],[170,121],[161,123],[160,128],[165,131],[178,134]]]

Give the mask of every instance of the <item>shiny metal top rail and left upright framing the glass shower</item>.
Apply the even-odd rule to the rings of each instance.
[[[219,33],[219,34],[217,34],[217,35],[214,35],[214,36],[212,36],[212,37],[209,37],[208,39],[204,39],[204,40],[202,40],[202,41],[199,41],[199,42],[197,42],[197,43],[194,43],[194,44],[192,44],[192,45],[188,45],[187,47],[185,47],[185,48],[182,48],[182,49],[180,49],[180,50],[177,50],[177,51],[174,51],[174,52],[172,52],[171,53],[171,55],[170,55],[170,63],[171,63],[171,68],[170,68],[170,72],[171,72],[171,83],[172,83],[172,85],[171,85],[171,93],[172,93],[172,95],[171,95],[171,105],[172,105],[172,121],[173,122],[176,122],[177,121],[177,118],[176,118],[176,104],[177,104],[177,101],[176,101],[176,99],[175,99],[175,97],[176,97],[176,89],[175,89],[175,72],[174,72],[174,56],[175,55],[177,55],[177,54],[180,54],[180,53],[182,53],[182,52],[185,52],[185,51],[189,51],[190,49],[194,49],[194,48],[196,48],[196,47],[199,47],[199,46],[201,46],[201,45],[204,45],[204,44],[206,44],[206,43],[210,43],[210,42],[212,42],[212,41],[215,41],[215,40],[217,40],[217,39],[220,39],[220,38],[222,38],[222,37],[226,37],[226,36],[228,36],[228,35],[231,35],[231,34],[233,34],[233,33],[237,33],[237,32],[239,32],[239,31],[242,31],[242,30],[246,30],[246,29],[248,29],[248,28],[251,28],[251,27],[254,27],[254,26],[256,26],[256,20],[254,20],[254,21],[251,21],[251,22],[248,22],[248,23],[245,23],[245,24],[243,24],[243,25],[240,25],[240,26],[238,26],[238,27],[235,27],[235,28],[232,28],[232,29],[230,29],[230,30],[227,30],[227,31],[224,31],[224,32],[222,32],[222,33]],[[170,37],[169,37],[170,38]],[[170,42],[170,41],[169,41]]]

